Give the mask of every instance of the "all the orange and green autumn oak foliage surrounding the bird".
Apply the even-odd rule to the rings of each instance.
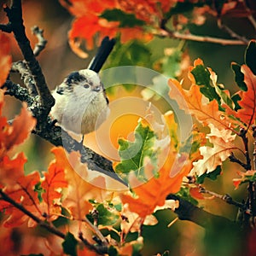
[[[202,22],[195,19],[196,14],[211,13],[219,18],[236,10],[236,1],[224,1],[215,9],[199,2],[60,0],[74,16],[68,40],[81,57],[87,56],[83,40],[86,49],[93,49],[105,36],[117,38],[120,45],[134,39],[146,44],[156,34],[170,35],[166,22],[171,17],[172,26],[183,32],[189,22]],[[185,4],[189,4],[193,21],[181,11]],[[255,253],[255,40],[247,45],[245,63],[231,64],[238,88],[233,93],[218,83],[217,74],[199,58],[193,65],[185,65],[185,72],[178,65],[172,72],[186,73],[186,90],[184,79],[175,75],[168,75],[166,84],[160,84],[164,88],[160,90],[162,95],[176,101],[178,108],[193,119],[191,131],[183,141],[177,113],[171,108],[166,110],[161,113],[160,122],[150,104],[147,118],[138,119],[135,129],[127,131],[133,132],[133,139],[119,137],[119,132],[113,131],[113,137],[119,137],[119,160],[113,161],[113,170],[124,183],[108,173],[92,171],[89,163],[81,161],[79,151],[68,153],[62,147],[51,148],[53,160],[45,171],[25,172],[26,162],[32,160],[26,159],[20,145],[32,137],[40,120],[25,102],[13,120],[3,115],[3,108],[9,107],[4,105],[9,92],[4,85],[12,69],[9,39],[3,32],[0,45],[0,239],[4,241],[0,255],[142,255],[147,241],[143,229],[158,224],[156,212],[163,209],[167,214],[175,212],[177,218],[209,228],[210,235],[206,233],[206,237],[216,236],[222,225],[221,216],[191,213],[204,211],[201,201],[215,198],[239,209],[237,225],[230,221],[230,233],[242,230],[242,236],[247,237],[246,242],[242,241],[248,248],[246,252]],[[141,44],[137,46],[148,55]],[[176,55],[176,59],[181,58],[182,55]],[[172,56],[166,54],[154,67],[160,65],[163,73],[170,74],[168,61],[173,61]],[[154,83],[148,88],[154,91]],[[148,102],[158,99],[159,95],[152,91],[150,96],[149,90],[139,96]],[[114,95],[115,91],[108,93]],[[206,180],[218,180],[223,172],[231,171],[226,170],[228,160],[239,166],[230,175],[231,183],[236,191],[247,183],[247,200],[233,201],[230,195],[207,189]],[[199,220],[201,216],[211,216],[212,220]],[[214,222],[216,219],[218,222]],[[222,220],[229,224],[226,218]],[[16,235],[23,238],[15,244]],[[235,249],[231,247],[229,253]]]

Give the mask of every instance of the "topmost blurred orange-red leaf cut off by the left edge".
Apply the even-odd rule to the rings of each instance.
[[[0,86],[3,85],[9,75],[9,70],[12,64],[10,53],[9,38],[0,32]]]

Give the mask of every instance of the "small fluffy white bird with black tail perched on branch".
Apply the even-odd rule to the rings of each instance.
[[[84,135],[95,131],[108,118],[108,96],[99,72],[111,53],[114,39],[105,37],[89,67],[69,73],[52,91],[55,105],[50,114],[64,130]]]

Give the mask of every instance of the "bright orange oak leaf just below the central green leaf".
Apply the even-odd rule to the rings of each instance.
[[[137,197],[131,195],[120,195],[123,203],[128,203],[131,212],[145,218],[154,212],[155,207],[163,206],[166,202],[166,196],[170,193],[176,193],[181,186],[183,177],[191,170],[191,163],[186,163],[187,156],[177,157],[177,153],[170,152],[167,156],[164,166],[160,168],[159,177],[152,177],[147,183],[143,183],[132,190]],[[150,169],[150,161],[145,164],[145,172]],[[175,173],[173,176],[170,172]],[[130,178],[131,186],[138,183],[137,177]]]

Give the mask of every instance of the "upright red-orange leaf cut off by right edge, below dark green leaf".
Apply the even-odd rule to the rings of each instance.
[[[237,117],[248,126],[256,119],[256,76],[247,65],[241,66],[241,72],[244,73],[244,82],[247,84],[247,91],[241,92],[241,109],[237,111]]]

